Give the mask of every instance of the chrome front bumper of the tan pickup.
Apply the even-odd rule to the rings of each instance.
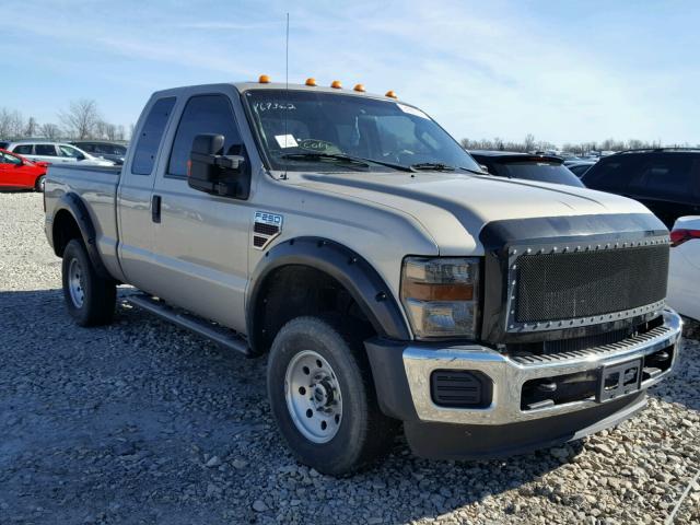
[[[509,357],[480,345],[445,348],[432,345],[401,346],[369,341],[366,348],[382,410],[405,422],[423,425],[433,423],[474,425],[475,429],[491,425],[505,430],[509,425],[517,423],[586,413],[586,427],[595,428],[596,417],[600,420],[609,420],[609,424],[614,424],[616,412],[629,412],[627,417],[631,416],[634,410],[628,409],[632,399],[640,398],[631,404],[639,409],[640,404],[643,402],[644,390],[663,381],[672,372],[677,359],[681,326],[680,317],[675,312],[664,310],[663,325],[646,334],[614,345],[529,358]],[[670,365],[661,373],[641,381],[640,388],[634,394],[606,401],[598,401],[595,396],[587,396],[542,408],[523,407],[523,385],[527,382],[539,378],[551,378],[556,382],[559,376],[586,372],[595,374],[603,368],[637,359],[643,360],[664,350],[670,354]],[[431,394],[432,373],[465,370],[478,371],[490,378],[492,382],[490,404],[483,408],[454,408],[436,405]],[[619,408],[611,412],[614,407]],[[596,412],[599,412],[599,416],[596,416]],[[580,430],[576,429],[576,432]],[[541,438],[545,443],[547,435]]]

